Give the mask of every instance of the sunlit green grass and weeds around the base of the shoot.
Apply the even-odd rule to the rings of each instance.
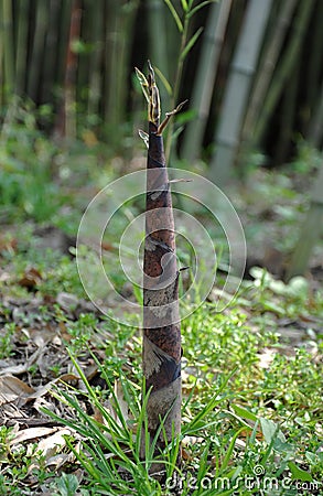
[[[28,255],[34,262],[32,249]],[[20,256],[22,254],[14,260],[4,257],[19,276],[24,269]],[[52,265],[49,261],[53,257],[56,267],[64,267],[56,273],[53,285],[64,288],[65,274],[74,272],[75,261],[64,256],[60,258],[57,254],[49,257],[46,252],[44,259],[39,260],[37,270],[44,280],[50,278]],[[63,466],[57,476],[39,453],[40,463],[33,468],[36,445],[28,449],[21,445],[12,451],[10,439],[14,431],[2,427],[1,494],[21,494],[24,484],[24,494],[36,494],[33,489],[28,492],[31,477],[36,477],[57,495],[244,495],[246,484],[263,484],[262,470],[268,484],[278,487],[277,493],[271,494],[298,494],[297,483],[303,487],[312,484],[314,490],[323,470],[322,373],[316,360],[322,354],[322,344],[317,336],[317,348],[301,346],[290,355],[284,354],[277,306],[292,308],[290,315],[293,317],[295,309],[298,315],[309,314],[304,288],[294,292],[291,285],[277,294],[270,277],[260,272],[258,276],[252,291],[249,282],[243,285],[233,308],[216,313],[215,305],[205,302],[182,324],[184,463],[181,470],[175,468],[179,440],[174,440],[162,454],[165,484],[149,475],[149,470],[158,462],[153,451],[144,462],[139,455],[140,440],[147,435],[147,396],[142,397],[140,387],[138,331],[90,313],[71,317],[56,303],[52,310],[44,306],[42,319],[52,317],[67,331],[69,362],[83,385],[75,388],[58,382],[51,395],[50,403],[64,405],[61,412],[68,414],[45,410],[47,416],[71,428],[64,450],[73,453],[74,461]],[[14,285],[7,287],[6,291],[15,294]],[[78,293],[76,285],[76,279],[71,278],[69,290],[74,294]],[[47,289],[49,284],[40,283],[39,296],[44,296]],[[244,308],[247,296],[249,306]],[[322,310],[319,292],[314,303],[319,315]],[[259,326],[261,319],[262,326]],[[32,325],[32,315],[24,325]],[[15,328],[13,324],[4,327],[2,348],[6,343],[9,356],[15,351],[19,328],[19,324]],[[266,349],[271,351],[272,360],[263,367],[260,358]],[[79,365],[86,356],[90,356],[99,369],[100,386],[90,385]],[[58,369],[55,376],[60,376]],[[74,473],[77,467],[83,471],[82,481]],[[259,476],[256,470],[260,471]],[[283,484],[288,481],[291,481],[290,487],[286,488]],[[259,494],[256,486],[247,490]],[[313,490],[303,494],[319,494]]]

